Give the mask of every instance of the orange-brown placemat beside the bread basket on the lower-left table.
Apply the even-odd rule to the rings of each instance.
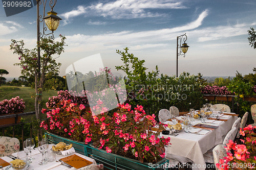
[[[81,167],[84,167],[84,166],[87,166],[87,165],[90,165],[92,164],[93,162],[87,160],[87,159],[84,159],[80,156],[77,156],[76,154],[74,155],[71,155],[71,156],[67,156],[65,158],[61,158],[60,160],[62,160],[63,162],[66,162],[68,163],[69,165],[79,169]]]

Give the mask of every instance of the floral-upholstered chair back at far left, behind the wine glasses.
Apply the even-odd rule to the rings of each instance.
[[[15,137],[0,136],[0,157],[19,151],[19,140]]]

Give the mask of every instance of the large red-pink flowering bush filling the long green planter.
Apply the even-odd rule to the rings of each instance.
[[[164,158],[164,145],[169,144],[170,138],[159,138],[159,131],[148,131],[157,125],[154,114],[146,115],[142,106],[132,109],[129,104],[119,105],[112,116],[106,110],[100,100],[89,112],[82,104],[61,101],[46,113],[50,120],[41,122],[40,127],[86,144],[93,141],[94,147],[141,162],[155,163]],[[100,114],[96,115],[98,111]],[[159,130],[164,130],[163,126],[159,124]]]

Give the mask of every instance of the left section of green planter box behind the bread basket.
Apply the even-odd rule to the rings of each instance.
[[[78,142],[78,141],[75,141],[75,140],[71,140],[71,139],[68,139],[68,138],[65,138],[65,137],[61,137],[61,136],[52,134],[50,132],[46,132],[45,135],[46,135],[46,138],[53,144],[57,144],[58,142],[61,142],[61,141],[65,142],[67,144],[72,143],[73,147],[74,147],[74,149],[77,153],[87,156],[87,153],[89,152],[88,148],[87,148],[88,144],[86,144],[84,142]]]

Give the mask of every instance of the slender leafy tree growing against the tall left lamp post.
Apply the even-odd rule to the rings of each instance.
[[[54,38],[44,37],[37,43],[37,47],[40,47],[40,71],[37,66],[37,47],[29,50],[24,48],[25,43],[23,40],[16,41],[11,40],[10,50],[13,50],[13,54],[19,55],[19,63],[14,65],[22,68],[22,75],[25,77],[35,78],[35,113],[36,119],[41,120],[41,108],[40,103],[42,100],[42,91],[44,91],[46,77],[54,75],[59,72],[60,63],[57,63],[54,54],[60,55],[64,52],[63,46],[65,45],[66,37],[59,35],[61,41],[54,41]],[[40,75],[40,76],[39,76]]]

